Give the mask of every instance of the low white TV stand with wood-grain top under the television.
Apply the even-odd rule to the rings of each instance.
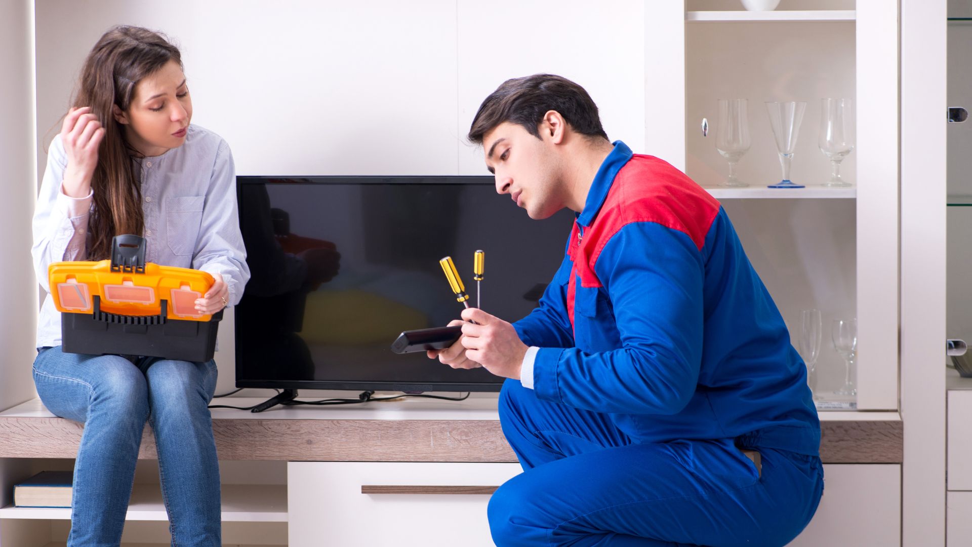
[[[281,393],[278,401],[286,397]],[[261,401],[229,399],[241,407]],[[213,409],[217,453],[222,461],[237,462],[229,466],[235,475],[223,475],[224,523],[261,530],[286,527],[280,530],[286,539],[278,544],[293,547],[320,545],[322,527],[335,545],[360,542],[362,529],[422,529],[429,533],[423,537],[429,546],[491,544],[485,493],[520,471],[503,438],[497,405],[495,394],[474,393],[463,401],[404,398],[284,406],[259,417]],[[793,545],[848,544],[848,530],[854,538],[864,538],[855,544],[875,544],[867,538],[886,534],[887,523],[897,523],[900,514],[902,421],[896,412],[824,412],[820,425],[827,491],[812,528]],[[0,476],[0,529],[5,534],[32,527],[37,520],[45,525],[43,521],[70,518],[69,509],[14,507],[10,492],[35,466],[50,464],[29,458],[77,456],[83,429],[81,423],[54,417],[40,399],[0,413],[0,458],[16,465]],[[145,429],[139,456],[157,457],[151,427]],[[254,460],[265,463],[259,466]],[[287,462],[285,478],[278,476],[274,461]],[[260,469],[265,476],[248,482]],[[156,485],[137,485],[136,493],[126,520],[167,519]],[[863,506],[873,509],[869,518],[861,517],[858,509]],[[51,537],[51,529],[47,524],[38,535]]]

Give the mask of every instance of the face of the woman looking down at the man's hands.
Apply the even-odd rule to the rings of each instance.
[[[160,156],[186,142],[192,119],[192,100],[186,75],[170,60],[135,85],[127,112],[115,107],[115,119],[125,127],[125,138],[143,156]]]

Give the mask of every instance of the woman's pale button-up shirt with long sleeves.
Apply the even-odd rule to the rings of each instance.
[[[186,142],[155,158],[136,161],[145,212],[146,262],[222,274],[229,306],[239,303],[250,278],[236,208],[236,169],[229,146],[216,133],[190,126]],[[91,194],[74,199],[61,182],[67,154],[54,137],[34,211],[34,274],[48,291],[37,320],[37,346],[59,346],[60,312],[48,286],[53,262],[85,260]]]

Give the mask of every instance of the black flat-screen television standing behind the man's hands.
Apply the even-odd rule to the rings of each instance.
[[[492,177],[237,177],[252,274],[235,309],[236,386],[495,391],[484,369],[397,354],[404,330],[447,324],[451,256],[476,304],[515,321],[537,306],[564,257],[573,213],[536,221]]]

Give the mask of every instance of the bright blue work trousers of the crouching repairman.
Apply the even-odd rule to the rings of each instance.
[[[638,443],[610,415],[541,401],[514,380],[500,394],[503,435],[524,472],[489,503],[508,546],[785,545],[823,492],[817,456],[733,439]]]

